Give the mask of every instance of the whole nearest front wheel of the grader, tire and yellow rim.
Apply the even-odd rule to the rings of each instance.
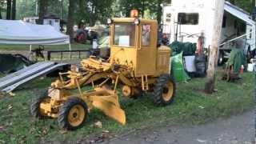
[[[87,105],[80,98],[70,98],[59,110],[58,126],[66,130],[75,130],[82,126],[88,115]]]

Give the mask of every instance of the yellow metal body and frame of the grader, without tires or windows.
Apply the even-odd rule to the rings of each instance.
[[[94,107],[102,110],[110,118],[125,124],[126,115],[121,109],[117,86],[119,83],[130,88],[140,87],[150,90],[160,74],[170,73],[170,49],[166,46],[157,47],[158,23],[155,20],[140,19],[135,26],[135,45],[132,47],[114,46],[114,24],[117,22],[134,22],[135,18],[113,18],[110,25],[110,58],[107,61],[90,57],[82,60],[82,70],[75,67],[51,83],[48,98],[41,102],[40,112],[52,118],[58,117],[58,110],[69,98],[78,97],[86,102],[88,111]],[[141,46],[142,25],[150,25],[150,45]],[[118,67],[117,67],[118,66]],[[65,81],[67,77],[68,80]],[[105,78],[98,86],[94,82]],[[108,89],[106,82],[114,82],[114,90]],[[82,91],[83,85],[91,84],[94,90]],[[78,94],[70,94],[70,89],[78,89]],[[128,90],[128,89],[127,89]],[[130,92],[131,94],[132,92]],[[129,95],[129,94],[128,94]]]

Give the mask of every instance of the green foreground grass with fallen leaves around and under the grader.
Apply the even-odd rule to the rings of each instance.
[[[2,96],[0,99],[0,143],[31,142],[76,142],[85,140],[91,134],[101,134],[103,130],[122,134],[129,130],[149,126],[164,125],[166,122],[182,125],[201,124],[216,118],[241,114],[254,107],[254,74],[243,74],[242,80],[229,83],[218,81],[218,92],[207,95],[200,92],[205,78],[194,78],[189,83],[178,83],[174,103],[171,106],[153,106],[150,94],[139,99],[122,98],[121,105],[126,111],[126,126],[114,122],[99,110],[92,110],[82,128],[63,132],[58,129],[56,119],[34,120],[28,113],[31,98],[39,90],[49,86],[52,78],[36,80],[15,96]],[[102,129],[94,128],[94,122],[102,122]]]

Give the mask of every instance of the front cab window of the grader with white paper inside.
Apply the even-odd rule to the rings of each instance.
[[[134,46],[135,25],[134,23],[117,23],[114,25],[114,45]]]

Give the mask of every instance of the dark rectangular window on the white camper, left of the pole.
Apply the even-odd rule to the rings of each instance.
[[[181,25],[198,25],[198,13],[178,13],[178,22]]]

